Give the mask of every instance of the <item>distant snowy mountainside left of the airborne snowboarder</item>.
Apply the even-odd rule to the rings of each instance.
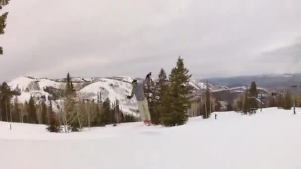
[[[97,99],[97,92],[100,91],[102,101],[109,98],[113,103],[116,99],[120,102],[120,108],[129,114],[136,114],[137,105],[136,100],[126,99],[126,96],[131,92],[131,82],[133,78],[130,77],[112,77],[112,78],[72,78],[72,82],[77,89],[77,93],[80,99]],[[33,95],[36,100],[42,95],[52,96],[47,87],[52,87],[55,90],[62,90],[66,85],[65,79],[46,79],[46,78],[32,78],[32,77],[20,77],[8,85],[12,88],[19,88],[21,95],[17,96],[20,102],[28,101],[30,96]],[[54,104],[56,102],[54,101]],[[55,106],[54,106],[55,107]]]

